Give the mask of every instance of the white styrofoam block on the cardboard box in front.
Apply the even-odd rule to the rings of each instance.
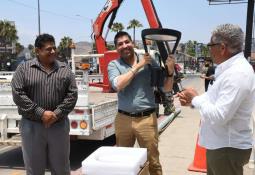
[[[146,148],[103,146],[82,161],[82,174],[137,175],[146,161]]]

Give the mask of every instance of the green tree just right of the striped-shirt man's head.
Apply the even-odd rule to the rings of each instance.
[[[71,48],[70,45],[73,43],[73,39],[65,36],[61,39],[58,46],[58,53],[61,60],[71,59]]]

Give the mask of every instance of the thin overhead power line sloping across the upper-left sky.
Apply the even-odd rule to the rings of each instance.
[[[30,9],[33,9],[33,10],[37,11],[37,8],[34,7],[34,6],[31,6],[31,5],[22,3],[22,2],[18,2],[16,0],[8,0],[8,1],[12,2],[14,4],[17,4],[17,5],[20,5],[20,6],[23,6],[23,7],[26,7],[26,8],[30,8]],[[51,15],[54,15],[54,16],[59,16],[59,17],[71,19],[71,20],[83,21],[83,19],[80,19],[80,18],[76,18],[76,17],[72,17],[72,16],[67,16],[67,15],[55,13],[55,12],[52,12],[52,11],[49,11],[49,10],[41,9],[41,12],[48,13],[48,14],[51,14]],[[91,20],[91,18],[88,18],[88,17],[84,17],[84,18],[87,19],[87,20]]]

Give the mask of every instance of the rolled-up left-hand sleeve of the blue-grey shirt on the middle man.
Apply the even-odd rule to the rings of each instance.
[[[108,64],[108,77],[109,82],[114,90],[117,90],[117,77],[120,75],[120,71],[118,70],[114,61],[111,61]]]

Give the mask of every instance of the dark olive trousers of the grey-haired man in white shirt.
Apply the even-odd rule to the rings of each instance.
[[[220,148],[206,151],[207,175],[243,175],[251,149]]]

